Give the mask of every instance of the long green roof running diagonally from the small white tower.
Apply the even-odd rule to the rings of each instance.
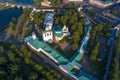
[[[29,36],[26,38],[26,40],[35,48],[35,49],[43,49],[45,52],[50,54],[53,58],[55,58],[59,64],[62,63],[68,63],[68,60],[64,58],[63,55],[61,55],[58,51],[51,48],[48,44],[46,44],[44,41],[40,39],[33,39],[32,36]]]

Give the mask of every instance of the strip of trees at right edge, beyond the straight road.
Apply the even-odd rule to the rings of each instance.
[[[120,36],[116,39],[108,80],[120,80]]]

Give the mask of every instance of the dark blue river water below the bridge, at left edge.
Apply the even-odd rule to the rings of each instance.
[[[22,10],[20,9],[7,9],[0,11],[0,30],[5,28],[11,19],[18,18],[22,14]]]

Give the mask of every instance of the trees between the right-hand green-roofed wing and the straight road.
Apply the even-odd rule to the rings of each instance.
[[[90,53],[90,66],[91,69],[93,70],[93,74],[97,76],[99,79],[103,78],[104,71],[105,71],[105,66],[107,62],[107,56],[102,61],[98,61],[98,55],[100,54],[100,48],[102,45],[100,41],[98,41],[99,37],[103,37],[106,39],[109,39],[110,37],[110,28],[111,25],[109,23],[106,24],[97,24],[95,26],[92,26],[92,31],[91,31],[91,37],[90,41],[88,44],[88,52]],[[106,46],[106,50],[107,50]],[[107,54],[108,51],[106,51],[105,55]],[[103,68],[101,68],[103,67]]]

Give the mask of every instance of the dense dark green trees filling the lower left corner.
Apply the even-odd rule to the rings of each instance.
[[[0,44],[1,80],[65,80],[49,66],[43,67],[31,60],[32,52],[24,45],[18,50],[16,46],[8,43]]]

